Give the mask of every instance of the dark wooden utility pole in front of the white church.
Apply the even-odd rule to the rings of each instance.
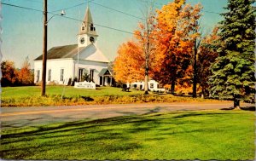
[[[44,25],[43,25],[43,72],[41,96],[45,96],[46,62],[47,62],[47,0],[44,0]]]

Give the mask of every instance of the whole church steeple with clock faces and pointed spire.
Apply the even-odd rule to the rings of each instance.
[[[98,37],[98,35],[96,34],[96,28],[93,25],[90,9],[87,7],[86,13],[84,15],[84,22],[82,23],[79,30],[79,47],[86,47],[90,43],[96,43],[96,37]]]

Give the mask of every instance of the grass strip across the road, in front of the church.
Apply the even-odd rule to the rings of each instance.
[[[62,92],[63,97],[61,97]],[[198,102],[213,101],[201,98],[174,95],[143,95],[143,91],[123,92],[119,88],[100,87],[95,89],[75,89],[67,86],[47,86],[46,97],[41,97],[39,86],[3,88],[1,106],[73,106],[125,103]]]

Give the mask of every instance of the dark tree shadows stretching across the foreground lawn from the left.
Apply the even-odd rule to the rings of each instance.
[[[154,114],[154,112],[158,112],[158,110],[159,108],[155,108],[153,111],[149,111],[148,115],[102,118],[96,120],[87,119],[65,124],[43,125],[24,130],[10,130],[9,133],[2,135],[1,144],[5,146],[5,148],[1,148],[0,157],[5,158],[5,156],[12,155],[15,156],[15,159],[30,158],[37,154],[37,152],[44,153],[50,149],[59,149],[58,152],[61,151],[61,153],[65,153],[68,151],[63,152],[63,150],[61,150],[65,149],[65,147],[77,149],[79,152],[85,152],[89,149],[96,152],[96,155],[102,156],[106,156],[110,152],[131,152],[143,148],[142,142],[134,140],[132,135],[142,137],[140,139],[143,141],[162,141],[169,138],[170,135],[190,135],[204,132],[206,129],[201,128],[202,123],[200,120],[197,120],[196,117],[199,117],[198,119],[200,119],[201,116],[221,117],[223,116],[221,114],[227,116],[227,113],[221,112],[186,112],[170,113],[167,115],[160,113]],[[174,114],[174,116],[172,114]],[[195,119],[189,121],[186,119],[178,119],[189,117],[194,117]],[[215,120],[215,118],[211,119],[207,124],[213,124]],[[195,127],[189,128],[191,124],[195,124]],[[216,129],[207,130],[214,132]],[[34,140],[37,140],[40,144],[38,145],[37,142],[33,142]],[[17,146],[21,143],[24,143],[24,146]],[[9,148],[9,144],[13,147]],[[96,147],[96,149],[94,149],[94,147]],[[37,149],[39,150],[37,151]],[[86,156],[84,153],[83,155]],[[89,151],[87,155],[90,155]],[[67,158],[61,157],[61,159]]]

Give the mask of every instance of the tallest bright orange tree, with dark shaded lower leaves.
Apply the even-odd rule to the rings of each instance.
[[[168,3],[157,11],[159,66],[155,68],[154,79],[171,84],[172,93],[191,63],[195,37],[200,36],[194,32],[200,11],[200,4],[193,7],[183,0]]]

